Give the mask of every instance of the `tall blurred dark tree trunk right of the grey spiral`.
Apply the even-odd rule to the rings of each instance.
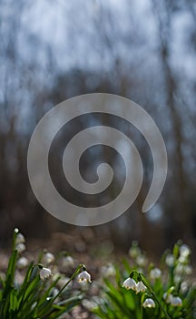
[[[165,84],[165,100],[167,107],[170,109],[172,131],[171,140],[174,143],[173,155],[169,159],[169,165],[173,171],[174,185],[178,189],[178,198],[174,201],[174,226],[177,228],[178,235],[182,240],[192,238],[191,233],[191,211],[186,199],[187,179],[186,172],[183,168],[183,134],[181,112],[174,98],[177,90],[177,79],[173,75],[170,63],[171,54],[171,5],[164,1],[164,12],[159,8],[156,0],[152,1],[155,15],[158,20],[158,30],[160,38],[160,57],[162,62],[162,75]],[[171,217],[172,220],[172,217]]]

